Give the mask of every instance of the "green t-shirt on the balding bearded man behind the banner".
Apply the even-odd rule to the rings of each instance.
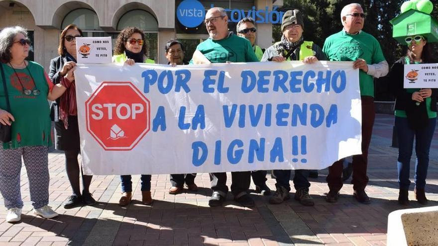
[[[234,34],[221,40],[211,38],[196,47],[212,63],[259,62],[251,43]],[[190,61],[193,64],[193,60]]]

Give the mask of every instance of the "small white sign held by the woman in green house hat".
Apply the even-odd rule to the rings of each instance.
[[[404,88],[438,88],[438,63],[405,65]]]

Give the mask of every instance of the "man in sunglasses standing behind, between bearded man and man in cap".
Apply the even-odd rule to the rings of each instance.
[[[236,26],[237,35],[246,38],[251,42],[252,48],[254,49],[255,55],[260,60],[263,56],[262,49],[255,44],[255,21],[251,17],[245,17],[241,19]],[[255,185],[255,191],[264,196],[269,196],[271,194],[271,189],[266,185],[266,170],[251,171],[252,181]]]

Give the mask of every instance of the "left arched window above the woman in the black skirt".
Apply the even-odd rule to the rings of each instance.
[[[76,24],[82,31],[102,30],[98,15],[88,8],[78,8],[68,13],[62,21],[61,30],[70,24]]]

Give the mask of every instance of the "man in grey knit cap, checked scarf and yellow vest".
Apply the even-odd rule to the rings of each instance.
[[[266,49],[262,62],[303,61],[304,63],[314,63],[318,60],[326,60],[326,56],[318,45],[311,41],[304,41],[304,22],[300,10],[288,10],[284,13],[281,30],[283,32],[281,41]],[[269,202],[279,204],[289,199],[291,170],[274,170],[274,176],[277,181],[275,184],[277,190]],[[296,192],[294,198],[303,205],[313,206],[314,201],[309,195],[308,177],[309,170],[295,170],[293,181]]]

